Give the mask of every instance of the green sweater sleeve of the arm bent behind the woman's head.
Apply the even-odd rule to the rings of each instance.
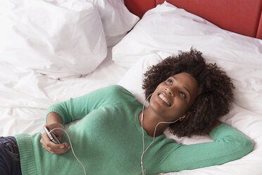
[[[163,147],[166,153],[158,168],[168,172],[224,164],[247,155],[254,147],[249,138],[225,123],[216,126],[210,136],[211,143]]]

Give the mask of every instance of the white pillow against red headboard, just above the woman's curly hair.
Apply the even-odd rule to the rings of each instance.
[[[147,11],[112,54],[116,63],[131,67],[146,54],[189,51],[192,46],[207,56],[247,64],[262,58],[262,40],[222,30],[166,1]]]

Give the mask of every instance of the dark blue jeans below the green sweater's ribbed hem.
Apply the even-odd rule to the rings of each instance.
[[[0,174],[22,174],[18,145],[14,137],[0,137]]]

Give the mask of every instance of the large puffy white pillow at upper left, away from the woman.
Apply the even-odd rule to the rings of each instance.
[[[106,57],[99,13],[86,1],[1,1],[0,20],[0,61],[17,68],[79,77]]]

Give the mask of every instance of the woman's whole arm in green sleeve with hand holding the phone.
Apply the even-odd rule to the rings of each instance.
[[[63,124],[70,123],[81,119],[94,109],[98,109],[104,104],[120,102],[123,98],[122,92],[127,92],[123,87],[113,85],[96,90],[82,97],[69,99],[66,102],[54,104],[46,112],[46,127],[50,130],[53,128],[63,128]],[[130,94],[130,92],[128,92]],[[131,95],[131,94],[130,94]],[[133,96],[132,96],[133,97]],[[135,98],[135,97],[134,97]],[[54,130],[54,134],[59,140],[62,140],[63,131]],[[46,133],[42,134],[40,140],[43,147],[53,154],[63,154],[70,148],[67,143],[54,144],[49,140]]]

